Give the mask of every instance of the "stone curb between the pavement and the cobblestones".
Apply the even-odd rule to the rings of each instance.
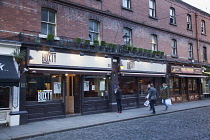
[[[182,110],[175,110],[171,112],[164,112],[164,113],[159,113],[159,114],[147,114],[147,115],[142,115],[139,117],[132,117],[132,118],[127,118],[127,119],[122,119],[122,120],[116,120],[116,121],[110,121],[110,122],[102,122],[102,123],[97,123],[97,124],[92,124],[92,125],[87,125],[87,126],[81,126],[81,127],[75,127],[75,128],[67,128],[67,129],[62,129],[62,130],[55,130],[51,132],[37,132],[37,133],[32,133],[32,134],[25,134],[25,135],[20,135],[17,137],[11,137],[11,140],[20,140],[20,139],[26,139],[26,138],[32,138],[32,137],[37,137],[37,136],[44,136],[44,135],[49,135],[49,134],[54,134],[54,133],[59,133],[59,132],[66,132],[66,131],[71,131],[71,130],[77,130],[77,129],[82,129],[82,128],[88,128],[88,127],[93,127],[93,126],[99,126],[99,125],[104,125],[104,124],[111,124],[111,123],[116,123],[116,122],[122,122],[122,121],[128,121],[128,120],[135,120],[139,118],[146,118],[146,117],[153,117],[153,116],[158,116],[158,115],[164,115],[164,114],[170,114],[170,113],[175,113],[175,112],[182,112],[186,110],[192,110],[192,109],[197,109],[197,108],[204,108],[204,107],[209,107],[210,105],[204,105],[204,106],[199,106],[199,107],[193,107],[193,108],[188,108],[188,109],[182,109]]]

